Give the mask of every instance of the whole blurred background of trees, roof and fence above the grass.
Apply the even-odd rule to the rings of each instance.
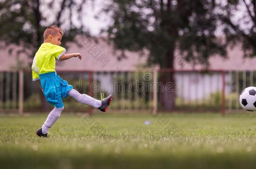
[[[255,0],[0,0],[1,113],[52,109],[31,78],[50,25],[83,55],[57,73],[80,93],[112,93],[112,112],[237,112],[256,86]]]

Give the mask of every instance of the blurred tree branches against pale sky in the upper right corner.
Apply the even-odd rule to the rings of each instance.
[[[256,0],[225,0],[216,13],[227,43],[242,45],[245,57],[256,55]]]

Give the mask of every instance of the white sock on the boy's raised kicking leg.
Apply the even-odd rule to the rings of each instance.
[[[96,108],[100,107],[102,104],[100,100],[92,98],[91,96],[88,96],[87,94],[80,94],[78,91],[76,91],[73,88],[70,91],[68,91],[68,96],[73,97],[80,103],[88,104],[88,105],[94,106]]]

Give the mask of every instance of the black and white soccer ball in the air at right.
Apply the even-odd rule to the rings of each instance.
[[[245,88],[239,97],[240,105],[248,111],[256,110],[256,87]]]

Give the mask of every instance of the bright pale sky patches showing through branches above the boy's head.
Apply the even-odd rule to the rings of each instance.
[[[43,26],[49,26],[52,23],[55,23],[56,17],[52,17],[52,15],[57,15],[57,11],[60,10],[60,4],[63,0],[54,0],[53,1],[53,9],[56,9],[55,11],[48,10],[48,4],[52,3],[52,0],[42,0],[43,3],[41,3],[40,10],[42,13],[42,16],[44,18],[47,18],[46,20],[42,20],[41,24]],[[77,1],[77,3],[81,3],[81,0],[74,0]],[[91,35],[99,35],[102,28],[107,28],[107,25],[110,24],[110,17],[108,17],[105,13],[100,13],[102,11],[102,8],[105,7],[106,3],[109,3],[111,0],[86,0],[86,3],[83,4],[83,11],[82,11],[82,21],[83,24],[86,26],[86,30],[89,30]],[[19,8],[21,8],[19,6]],[[16,10],[16,9],[14,9]],[[76,13],[77,6],[73,8],[72,12],[72,22],[76,26],[80,26],[80,22],[78,22],[78,15]],[[62,24],[62,28],[65,31],[65,27],[68,27],[69,20],[67,18],[69,17],[69,10],[63,11],[63,16],[60,18]],[[95,18],[95,16],[98,16],[99,18]]]

